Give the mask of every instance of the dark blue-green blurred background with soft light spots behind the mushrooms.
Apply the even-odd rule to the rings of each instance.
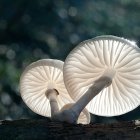
[[[116,35],[140,46],[139,0],[0,0],[0,119],[41,118],[23,103],[19,78],[42,58],[65,60],[78,43]],[[140,107],[93,122],[140,119]]]

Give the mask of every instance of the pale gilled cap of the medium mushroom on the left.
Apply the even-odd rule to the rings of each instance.
[[[26,105],[35,113],[51,116],[51,108],[45,95],[47,89],[59,92],[59,108],[73,102],[64,85],[63,64],[60,60],[42,59],[26,67],[20,78],[20,93]]]

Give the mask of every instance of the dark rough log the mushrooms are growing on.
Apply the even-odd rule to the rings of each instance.
[[[140,121],[75,125],[39,120],[0,122],[0,140],[140,140]]]

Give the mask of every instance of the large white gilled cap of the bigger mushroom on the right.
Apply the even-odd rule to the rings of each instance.
[[[75,101],[104,73],[114,75],[112,84],[87,104],[93,114],[117,116],[140,105],[140,49],[129,40],[111,35],[86,40],[67,56],[63,72]]]

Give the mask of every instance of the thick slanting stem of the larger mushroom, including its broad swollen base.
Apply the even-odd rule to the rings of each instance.
[[[86,93],[68,110],[64,110],[59,113],[61,121],[66,121],[69,123],[76,123],[81,111],[86,107],[86,105],[103,90],[112,83],[112,78],[107,76],[102,76],[94,82],[94,84],[86,91]]]

